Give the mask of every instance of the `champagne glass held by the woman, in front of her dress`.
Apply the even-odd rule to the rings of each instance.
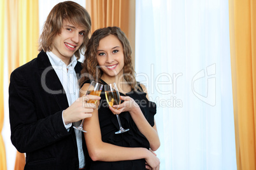
[[[108,105],[110,105],[110,107],[112,107],[113,105],[120,105],[120,95],[115,82],[113,84],[104,85],[104,89],[105,89],[106,101],[108,102]],[[117,114],[117,121],[119,124],[119,131],[115,132],[115,134],[129,131],[129,129],[122,128],[122,124],[118,114]]]

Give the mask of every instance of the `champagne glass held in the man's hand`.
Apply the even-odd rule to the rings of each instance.
[[[101,95],[102,89],[103,89],[103,84],[100,84],[100,83],[98,83],[98,82],[92,81],[92,82],[90,83],[90,86],[89,86],[89,88],[87,89],[85,95],[99,96],[99,95]],[[97,103],[97,100],[88,100],[87,103],[94,103],[94,104],[96,104],[96,103]],[[80,126],[78,126],[78,127],[73,126],[73,128],[77,129],[78,131],[83,131],[83,132],[86,133],[87,131],[83,130],[83,121],[84,121],[84,120],[85,120],[85,119],[82,120]]]

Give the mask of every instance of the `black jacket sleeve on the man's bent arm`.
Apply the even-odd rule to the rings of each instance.
[[[10,77],[9,111],[11,142],[19,152],[33,152],[65,138],[70,132],[64,127],[62,110],[42,115],[34,100],[29,79],[14,71]]]

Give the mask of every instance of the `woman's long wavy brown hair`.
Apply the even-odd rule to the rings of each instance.
[[[83,86],[84,82],[87,80],[94,79],[99,81],[101,75],[103,75],[103,70],[99,68],[97,63],[97,49],[99,48],[99,41],[106,36],[116,36],[118,40],[122,43],[124,49],[124,79],[127,81],[132,89],[137,88],[137,82],[135,79],[135,72],[132,67],[132,49],[130,43],[125,36],[124,32],[119,27],[106,27],[103,29],[97,29],[90,37],[89,42],[86,46],[85,60],[83,62],[82,78],[80,79],[80,86]]]

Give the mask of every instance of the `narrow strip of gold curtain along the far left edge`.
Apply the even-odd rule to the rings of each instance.
[[[0,169],[6,170],[6,152],[2,136],[2,129],[4,125],[4,34],[6,32],[5,22],[6,18],[5,1],[0,1]]]

